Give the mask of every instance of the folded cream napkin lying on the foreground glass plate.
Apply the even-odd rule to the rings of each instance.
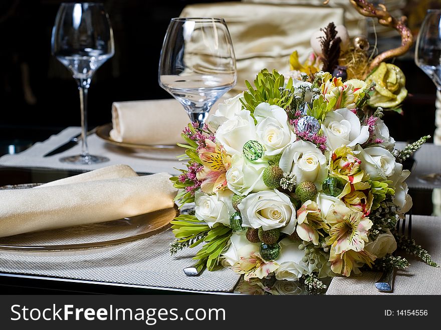
[[[97,176],[94,172],[64,184],[0,191],[0,237],[111,221],[174,205],[177,190],[168,173],[131,176],[127,168],[113,166],[97,170]],[[112,178],[102,179],[109,173]]]

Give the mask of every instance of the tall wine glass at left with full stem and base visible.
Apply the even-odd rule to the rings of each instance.
[[[63,3],[52,30],[52,53],[77,81],[81,108],[81,154],[61,158],[71,164],[97,164],[109,159],[89,154],[87,94],[95,71],[115,52],[113,32],[102,4]]]

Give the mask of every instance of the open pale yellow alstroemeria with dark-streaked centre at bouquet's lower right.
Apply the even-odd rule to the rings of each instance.
[[[328,230],[326,243],[332,245],[336,254],[348,250],[363,250],[364,243],[368,242],[367,234],[372,227],[372,221],[362,216],[363,213],[340,204],[329,211],[326,222],[331,228]]]

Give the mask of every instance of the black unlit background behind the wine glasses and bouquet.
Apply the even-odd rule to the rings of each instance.
[[[79,96],[70,72],[51,56],[51,32],[62,1],[0,0],[0,142],[44,140],[80,125]],[[103,0],[115,38],[115,56],[96,72],[89,92],[89,126],[111,121],[114,101],[169,98],[157,83],[157,63],[170,18],[186,0]],[[412,6],[418,2],[409,0]],[[416,5],[415,5],[416,3]],[[439,8],[440,1],[422,1]],[[412,8],[412,7],[410,7]],[[421,9],[421,8],[420,8]],[[425,9],[424,9],[425,10]],[[415,24],[413,22],[414,26]],[[396,140],[434,131],[435,87],[413,63],[413,50],[395,59],[407,77],[404,115],[385,116]],[[0,153],[1,154],[1,153]]]

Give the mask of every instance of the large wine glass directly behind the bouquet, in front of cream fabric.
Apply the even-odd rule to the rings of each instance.
[[[202,128],[211,106],[236,84],[236,58],[224,19],[171,19],[158,76],[159,85]]]

